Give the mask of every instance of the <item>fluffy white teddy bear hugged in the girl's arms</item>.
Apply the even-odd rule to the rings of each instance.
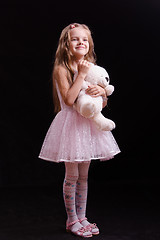
[[[78,73],[74,75],[74,79],[77,74]],[[106,90],[107,96],[111,95],[114,91],[114,86],[109,85],[107,71],[100,66],[91,64],[78,98],[74,103],[74,108],[83,117],[92,119],[99,130],[111,131],[115,128],[115,123],[112,120],[105,118],[101,113],[103,108],[103,98],[101,96],[91,97],[85,93],[85,90],[90,85],[99,85],[103,87]]]

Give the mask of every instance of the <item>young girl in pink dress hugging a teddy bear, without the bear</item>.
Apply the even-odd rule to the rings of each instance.
[[[98,130],[92,120],[73,108],[91,63],[95,64],[95,53],[89,28],[78,23],[64,28],[53,69],[54,102],[56,111],[61,111],[48,130],[39,156],[65,163],[66,230],[82,237],[99,234],[96,224],[91,224],[85,215],[91,159],[109,160],[120,152],[110,131]],[[92,97],[102,96],[106,105],[107,94],[102,87],[92,85],[86,93]]]

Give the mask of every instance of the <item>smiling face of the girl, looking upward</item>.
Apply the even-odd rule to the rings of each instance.
[[[70,31],[69,49],[77,60],[82,59],[89,51],[88,34],[87,30],[81,27]]]

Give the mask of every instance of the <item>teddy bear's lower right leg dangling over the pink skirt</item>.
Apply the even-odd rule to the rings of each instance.
[[[102,113],[98,113],[96,114],[93,118],[92,118],[93,122],[96,124],[96,127],[99,130],[102,131],[111,131],[115,128],[115,123],[108,119],[105,118]]]

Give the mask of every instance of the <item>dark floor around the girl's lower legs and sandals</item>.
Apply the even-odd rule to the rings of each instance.
[[[65,231],[59,186],[1,188],[0,240],[80,239]],[[90,182],[87,216],[101,232],[93,239],[159,240],[159,202],[155,184]]]

